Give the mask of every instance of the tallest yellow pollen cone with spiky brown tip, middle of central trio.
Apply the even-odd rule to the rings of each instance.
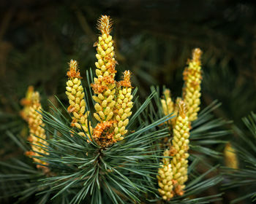
[[[113,39],[110,35],[111,20],[109,16],[102,15],[99,17],[97,28],[101,31],[99,41],[97,42],[97,62],[95,63],[96,75],[94,83],[91,84],[94,90],[94,101],[96,101],[101,108],[97,107],[94,117],[99,122],[107,122],[112,119],[111,112],[116,101],[113,100],[116,95],[116,60],[114,58],[115,52],[113,51]],[[101,111],[108,108],[108,111]]]

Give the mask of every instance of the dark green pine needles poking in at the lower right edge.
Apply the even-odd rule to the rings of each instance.
[[[237,169],[224,169],[227,178],[224,185],[225,189],[239,189],[239,197],[232,200],[231,203],[238,203],[246,199],[248,201],[251,200],[251,202],[255,202],[256,200],[256,114],[252,112],[248,117],[243,118],[243,122],[249,131],[234,127],[240,138],[240,140],[233,142],[236,155],[238,155],[239,167]]]

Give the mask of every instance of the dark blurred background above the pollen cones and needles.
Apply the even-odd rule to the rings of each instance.
[[[132,71],[141,98],[151,85],[165,85],[174,96],[181,95],[182,71],[191,50],[200,47],[202,106],[218,99],[222,106],[215,114],[241,125],[241,117],[256,110],[255,9],[255,1],[229,0],[1,0],[2,137],[8,128],[20,131],[19,101],[29,85],[42,93],[47,109],[53,95],[66,100],[70,59],[78,60],[82,76],[94,69],[99,15],[113,18],[119,75]],[[0,157],[10,157],[11,146],[1,143],[0,149]]]

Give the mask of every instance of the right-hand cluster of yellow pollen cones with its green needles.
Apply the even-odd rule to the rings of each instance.
[[[212,144],[225,141],[219,140],[214,143],[214,138],[217,139],[219,136],[230,133],[228,130],[222,130],[222,126],[228,122],[223,119],[214,119],[211,114],[219,106],[217,101],[200,111],[200,85],[203,78],[200,60],[202,53],[199,48],[192,51],[192,59],[188,60],[188,66],[183,73],[182,97],[173,98],[171,91],[167,88],[164,88],[162,98],[155,96],[156,105],[159,107],[157,113],[154,114],[155,119],[162,115],[175,115],[159,126],[161,129],[167,128],[170,133],[170,136],[162,140],[163,159],[159,160],[157,186],[160,203],[186,203],[185,200],[189,195],[193,195],[195,198],[187,200],[188,203],[218,199],[217,197],[196,197],[204,189],[199,188],[195,191],[192,187],[195,181],[198,187],[200,182],[202,184],[209,183],[208,187],[212,187],[222,180],[217,173],[213,178],[203,178],[207,173],[214,173],[217,166],[210,168],[207,173],[198,178],[194,173],[197,171],[197,163],[207,163],[206,156],[221,157],[220,152],[212,149]],[[159,94],[158,87],[152,87],[151,90],[155,90]],[[189,149],[192,150],[192,153]]]

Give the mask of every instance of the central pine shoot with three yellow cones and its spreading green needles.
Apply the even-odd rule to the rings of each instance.
[[[47,112],[43,114],[45,123],[59,133],[49,141],[50,145],[65,147],[55,148],[54,154],[68,155],[61,158],[53,157],[53,154],[48,156],[48,160],[60,162],[59,168],[66,173],[45,181],[48,185],[58,183],[55,188],[59,192],[55,197],[67,189],[65,185],[79,187],[70,203],[89,197],[89,190],[94,192],[89,198],[91,202],[97,200],[96,203],[100,203],[102,197],[108,197],[109,203],[139,202],[141,192],[154,185],[154,182],[148,184],[147,179],[152,179],[151,174],[159,165],[154,163],[156,155],[148,152],[153,153],[159,138],[167,136],[166,130],[157,130],[156,127],[170,119],[170,114],[148,125],[138,125],[138,117],[156,93],[152,93],[143,104],[137,103],[139,108],[132,111],[132,99],[137,89],[132,91],[130,71],[124,71],[121,80],[116,81],[117,63],[111,26],[110,17],[99,18],[97,28],[101,35],[94,44],[97,47],[96,76],[89,72],[86,76],[91,90],[83,91],[78,63],[75,60],[69,63],[66,95],[69,100],[67,113],[72,121],[58,111],[54,117]],[[87,97],[86,93],[89,94]],[[61,106],[64,105],[61,103]],[[91,106],[94,110],[90,109]],[[147,164],[152,169],[148,169]]]

